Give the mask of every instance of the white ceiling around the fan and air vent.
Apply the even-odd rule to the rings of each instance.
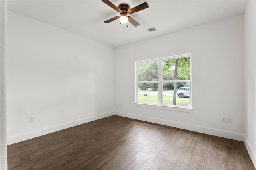
[[[140,25],[119,20],[104,23],[119,13],[101,0],[8,0],[8,10],[70,31],[100,43],[118,47],[203,23],[243,14],[248,0],[110,0],[133,8],[147,2],[149,8],[129,14]],[[146,32],[149,27],[157,31]]]

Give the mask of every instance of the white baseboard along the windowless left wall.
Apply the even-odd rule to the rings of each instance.
[[[81,125],[81,124],[84,124],[84,123],[88,123],[90,121],[95,121],[95,120],[98,120],[98,119],[102,119],[102,118],[109,117],[109,116],[112,116],[112,115],[114,115],[114,112],[104,113],[104,114],[96,115],[96,116],[92,116],[92,117],[86,117],[84,119],[79,119],[79,120],[76,120],[76,121],[71,121],[71,122],[60,124],[60,125],[47,127],[47,128],[39,129],[39,130],[32,131],[32,132],[23,133],[23,134],[12,136],[12,137],[7,137],[7,145],[11,145],[13,143],[17,143],[17,142],[20,142],[20,141],[25,141],[25,140],[28,140],[28,139],[32,139],[34,137],[39,137],[39,136],[42,136],[42,135],[46,135],[46,134],[49,134],[49,133],[53,133],[53,132],[56,132],[56,131],[60,131],[60,130],[63,130],[63,129],[74,127],[74,126]]]

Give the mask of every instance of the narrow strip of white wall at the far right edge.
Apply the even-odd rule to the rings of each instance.
[[[244,13],[245,145],[256,167],[256,1]]]

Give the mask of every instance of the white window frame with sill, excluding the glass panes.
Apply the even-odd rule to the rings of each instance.
[[[162,75],[162,70],[163,70],[163,60],[166,59],[176,59],[176,58],[182,58],[182,57],[189,57],[190,59],[190,80],[163,80],[163,75]],[[188,113],[193,113],[192,109],[192,72],[191,72],[191,58],[192,54],[183,54],[183,55],[174,55],[174,56],[169,56],[169,57],[161,57],[161,58],[156,58],[156,59],[148,59],[148,60],[141,60],[141,61],[136,61],[135,62],[135,103],[134,106],[139,106],[139,107],[150,107],[154,109],[167,109],[167,110],[172,110],[172,111],[181,111],[181,112],[188,112]],[[144,63],[144,62],[149,62],[149,61],[158,61],[158,81],[138,81],[138,63]],[[189,106],[181,106],[181,105],[169,105],[169,104],[163,104],[163,92],[162,92],[162,87],[163,83],[182,83],[186,82],[190,84],[190,105]],[[152,103],[146,103],[146,102],[139,102],[138,101],[138,84],[139,83],[158,83],[158,104],[152,104]],[[177,89],[178,90],[178,89]]]

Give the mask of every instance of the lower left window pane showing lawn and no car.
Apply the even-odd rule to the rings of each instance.
[[[158,104],[158,83],[139,83],[138,102]]]

